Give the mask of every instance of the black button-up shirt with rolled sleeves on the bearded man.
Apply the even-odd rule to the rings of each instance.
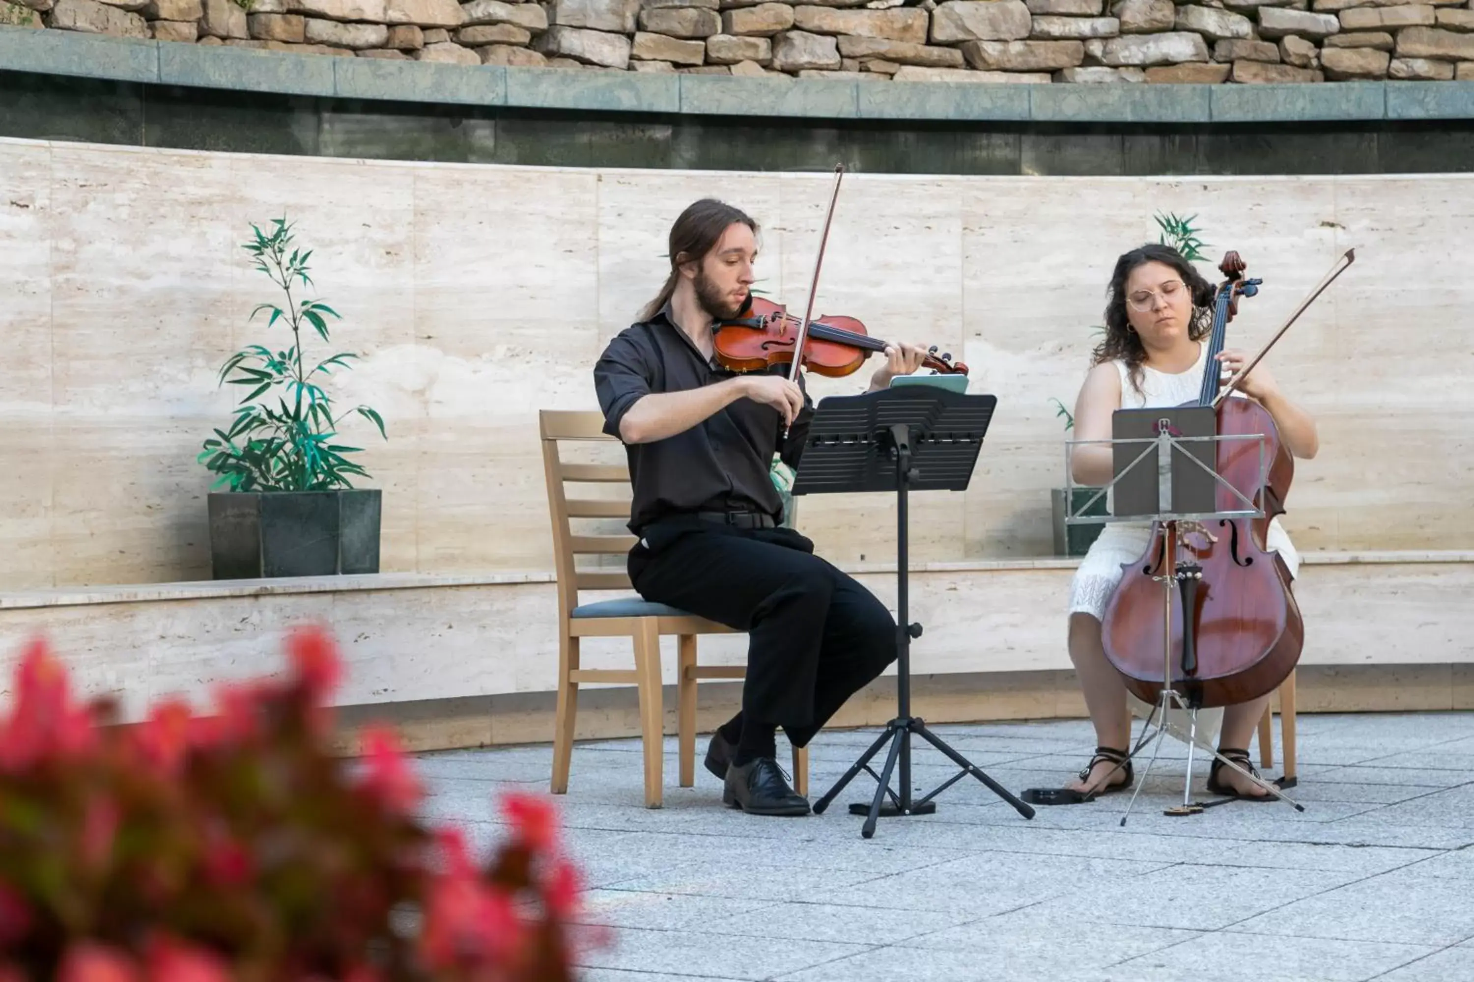
[[[787,375],[786,365],[771,371]],[[702,355],[675,325],[666,303],[653,319],[621,331],[594,365],[604,433],[618,437],[619,421],[641,396],[685,392],[734,375]],[[812,415],[814,403],[805,390],[803,409],[783,443],[789,467],[797,467]],[[684,433],[625,445],[634,484],[629,530],[643,534],[650,523],[696,511],[758,511],[781,521],[783,498],[769,477],[781,439],[783,415],[777,409],[737,399]]]

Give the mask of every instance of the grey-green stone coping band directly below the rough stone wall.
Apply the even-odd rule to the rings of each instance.
[[[1142,124],[1474,118],[1474,82],[1035,85],[792,81],[557,68],[467,68],[25,28],[0,28],[0,69],[237,93],[662,115]]]

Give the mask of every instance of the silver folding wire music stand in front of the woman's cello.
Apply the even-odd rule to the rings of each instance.
[[[1197,736],[1197,707],[1178,692],[1172,683],[1172,587],[1176,584],[1182,593],[1182,610],[1192,610],[1191,598],[1197,590],[1195,580],[1203,576],[1201,567],[1176,559],[1178,539],[1182,534],[1182,530],[1178,529],[1178,523],[1195,524],[1213,518],[1263,518],[1263,509],[1256,506],[1251,498],[1246,496],[1231,483],[1223,480],[1223,477],[1218,473],[1218,445],[1229,440],[1254,440],[1259,443],[1259,490],[1262,492],[1269,476],[1265,436],[1219,436],[1215,408],[1197,405],[1117,409],[1111,415],[1111,436],[1113,439],[1110,440],[1066,442],[1066,524],[1157,521],[1162,523],[1163,534],[1166,536],[1164,554],[1173,558],[1173,568],[1170,573],[1153,577],[1153,580],[1162,583],[1162,692],[1157,696],[1157,704],[1147,716],[1141,738],[1136,741],[1136,745],[1131,749],[1131,752],[1126,754],[1126,760],[1131,760],[1139,754],[1147,743],[1151,743],[1151,758],[1147,761],[1147,769],[1142,771],[1141,780],[1136,782],[1136,789],[1132,792],[1131,802],[1126,805],[1126,811],[1120,817],[1120,824],[1126,824],[1126,819],[1131,816],[1131,810],[1136,804],[1136,795],[1141,794],[1142,785],[1147,783],[1147,774],[1151,773],[1151,766],[1157,761],[1159,743],[1162,738],[1170,732],[1167,727],[1167,713],[1173,704],[1176,704],[1176,707],[1181,708],[1188,717],[1188,764],[1182,782],[1182,804],[1179,807],[1166,808],[1163,814],[1190,816],[1200,814],[1204,808],[1204,805],[1194,804],[1191,801],[1192,751],[1195,748],[1212,754],[1215,758],[1223,761],[1225,767],[1232,767],[1269,794],[1290,802],[1294,805],[1296,811],[1304,811],[1304,805],[1291,801],[1278,785],[1263,780],[1262,777],[1256,777],[1237,763],[1219,754],[1215,746],[1200,741]],[[1095,495],[1091,495],[1089,501],[1080,505],[1079,509],[1073,509],[1072,506],[1075,504],[1076,484],[1070,462],[1075,448],[1101,445],[1111,448],[1113,477]],[[1238,504],[1240,508],[1218,506],[1219,486],[1226,487],[1232,493],[1237,499],[1234,504]],[[1086,515],[1085,511],[1107,493],[1111,493],[1113,496],[1110,508],[1111,514]],[[1184,667],[1184,674],[1191,674],[1197,661],[1192,649],[1192,635],[1191,632],[1184,632],[1182,637],[1184,643],[1178,652],[1178,661]],[[1156,720],[1159,714],[1160,721],[1156,723],[1156,730],[1153,732],[1153,720]],[[1125,761],[1117,764],[1111,770],[1111,774],[1122,767],[1125,767]],[[1106,777],[1110,780],[1110,774]]]

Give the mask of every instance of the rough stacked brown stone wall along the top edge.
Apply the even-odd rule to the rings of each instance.
[[[469,66],[874,81],[1474,80],[1474,0],[0,0],[0,24]]]

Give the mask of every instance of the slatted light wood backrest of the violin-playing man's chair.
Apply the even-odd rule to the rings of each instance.
[[[559,615],[566,618],[578,607],[579,590],[631,589],[624,570],[579,570],[578,555],[624,555],[635,545],[632,534],[575,534],[573,518],[629,520],[629,467],[619,464],[572,464],[562,458],[563,442],[600,440],[618,443],[604,433],[600,412],[542,409],[538,412],[542,434],[542,471],[548,490],[548,514],[553,518],[553,554],[557,562]],[[565,484],[624,486],[621,498],[570,496]],[[585,495],[588,492],[584,492]]]

